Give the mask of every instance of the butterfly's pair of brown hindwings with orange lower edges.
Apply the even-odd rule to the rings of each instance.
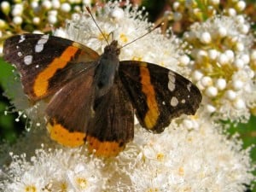
[[[96,98],[95,68],[55,93],[46,109],[47,126],[50,137],[58,143],[77,147],[86,141],[96,155],[114,156],[133,138],[133,108],[120,80]]]

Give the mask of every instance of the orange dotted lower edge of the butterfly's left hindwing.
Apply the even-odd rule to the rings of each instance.
[[[85,133],[78,131],[70,132],[61,124],[57,124],[55,120],[53,125],[50,123],[47,124],[47,130],[49,131],[51,139],[62,145],[78,147],[84,144]]]

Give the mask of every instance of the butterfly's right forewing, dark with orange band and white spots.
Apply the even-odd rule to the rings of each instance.
[[[150,131],[161,132],[171,119],[194,114],[201,93],[188,79],[143,61],[120,61],[120,79],[130,95],[137,119]]]

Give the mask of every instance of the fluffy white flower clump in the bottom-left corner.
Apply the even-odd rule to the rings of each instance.
[[[82,153],[82,148],[42,148],[36,150],[31,162],[26,162],[22,155],[13,156],[9,166],[9,173],[14,174],[13,181],[4,186],[4,191],[61,191],[63,188],[67,191],[99,191],[103,184],[99,172],[103,164],[96,164],[98,160],[90,160]]]

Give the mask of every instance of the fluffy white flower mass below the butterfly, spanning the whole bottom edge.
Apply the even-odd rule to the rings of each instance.
[[[249,153],[236,138],[227,140],[219,127],[202,122],[188,130],[175,122],[160,135],[137,127],[135,139],[118,157],[89,155],[86,147],[60,148],[54,143],[36,154],[14,155],[0,183],[5,192],[24,191],[244,191],[253,180]],[[32,141],[32,137],[39,141]],[[32,131],[20,148],[50,143],[45,131]],[[28,145],[28,143],[31,143]],[[51,149],[55,148],[55,149]],[[5,177],[3,175],[3,177]],[[228,184],[227,184],[228,183]]]

